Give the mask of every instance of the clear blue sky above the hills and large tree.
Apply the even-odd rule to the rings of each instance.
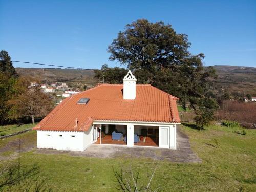
[[[126,24],[162,20],[205,65],[256,67],[256,1],[0,0],[0,49],[12,60],[100,68]],[[14,63],[15,67],[41,67]]]

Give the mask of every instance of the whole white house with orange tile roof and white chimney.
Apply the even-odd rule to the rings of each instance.
[[[123,84],[100,84],[66,98],[34,127],[37,147],[84,151],[91,144],[112,144],[176,149],[178,98],[136,81],[129,70]]]

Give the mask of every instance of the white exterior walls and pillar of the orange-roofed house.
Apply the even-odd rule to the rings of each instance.
[[[138,135],[141,126],[154,127],[168,127],[167,135],[169,146],[166,148],[176,149],[176,124],[157,124],[155,123],[124,123],[124,122],[97,122],[100,124],[115,124],[117,130],[127,132],[127,146],[134,146],[134,133]],[[122,123],[122,124],[121,124]],[[95,123],[96,124],[96,123]],[[136,125],[136,126],[135,126]],[[127,128],[126,128],[127,126]],[[92,126],[93,127],[93,126]],[[92,127],[87,132],[63,132],[63,131],[37,131],[37,148],[53,148],[56,150],[71,150],[84,151],[89,145],[93,143],[93,129]],[[137,127],[137,129],[136,129]],[[62,136],[60,136],[62,135]],[[73,137],[72,137],[73,136]],[[166,138],[166,137],[165,137]],[[161,142],[161,138],[159,138]]]

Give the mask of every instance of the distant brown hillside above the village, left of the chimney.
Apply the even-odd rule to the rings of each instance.
[[[22,76],[30,76],[43,82],[66,82],[76,79],[93,78],[93,70],[61,68],[16,68]]]

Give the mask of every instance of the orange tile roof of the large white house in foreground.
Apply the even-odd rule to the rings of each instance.
[[[87,131],[94,120],[180,122],[177,97],[151,85],[139,84],[136,87],[136,99],[124,100],[122,89],[121,84],[101,84],[68,97],[34,129]],[[90,98],[90,101],[77,104],[80,98]]]

